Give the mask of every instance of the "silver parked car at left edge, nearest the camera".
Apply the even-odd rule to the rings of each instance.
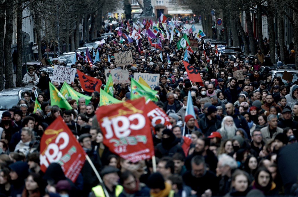
[[[31,87],[13,87],[4,89],[0,92],[0,120],[2,118],[2,113],[9,110],[15,106],[21,98],[24,98],[24,93],[26,90],[32,90]],[[35,101],[35,98],[41,90],[37,87],[34,90],[34,94],[31,95],[31,100]]]

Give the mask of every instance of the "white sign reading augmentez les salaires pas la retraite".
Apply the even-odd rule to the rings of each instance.
[[[76,68],[55,65],[52,81],[56,81],[59,83],[64,83],[64,81],[66,81],[66,83],[68,84],[73,84],[75,81],[76,70]]]

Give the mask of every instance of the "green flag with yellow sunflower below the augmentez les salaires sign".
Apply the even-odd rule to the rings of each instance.
[[[65,97],[57,90],[57,88],[49,82],[51,105],[58,105],[58,107],[72,110],[72,106],[66,101]]]

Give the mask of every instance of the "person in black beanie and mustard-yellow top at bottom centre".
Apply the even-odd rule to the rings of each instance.
[[[152,197],[174,196],[175,193],[174,190],[171,190],[171,185],[164,181],[159,172],[148,177],[147,186],[150,188],[150,196]]]

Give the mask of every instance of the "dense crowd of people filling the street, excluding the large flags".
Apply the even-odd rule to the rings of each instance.
[[[91,96],[90,103],[86,105],[85,98],[67,98],[72,110],[52,106],[48,74],[43,72],[38,79],[35,68],[29,67],[23,83],[32,91],[37,86],[44,92],[38,94],[41,110],[33,113],[34,94],[26,91],[15,107],[2,114],[0,196],[105,196],[88,162],[75,183],[57,163],[41,171],[39,140],[58,116],[91,158],[111,197],[298,195],[297,82],[272,79],[267,67],[259,74],[264,59],[260,50],[253,61],[249,57],[241,59],[237,53],[222,53],[216,61],[215,48],[200,40],[192,63],[204,84],[200,86],[188,79],[182,61],[184,49],[176,47],[177,33],[172,42],[161,39],[161,49],[153,49],[147,37],[142,37],[142,50],[138,51],[136,41],[121,44],[115,32],[98,46],[100,61],[90,67],[81,58],[72,67],[105,84],[105,69],[115,68],[113,55],[131,50],[133,64],[122,68],[128,69],[130,77],[137,72],[160,74],[159,85],[154,88],[158,91],[156,104],[169,116],[173,128],[155,126],[157,172],[153,171],[152,160],[133,163],[111,153],[103,144],[104,136],[94,115],[100,110],[99,92],[83,92],[76,75],[72,88]],[[204,44],[215,64],[206,61]],[[243,80],[233,76],[240,69]],[[52,84],[58,90],[62,85]],[[130,83],[114,84],[114,98],[128,100],[130,90]],[[196,117],[185,116],[188,91]]]

